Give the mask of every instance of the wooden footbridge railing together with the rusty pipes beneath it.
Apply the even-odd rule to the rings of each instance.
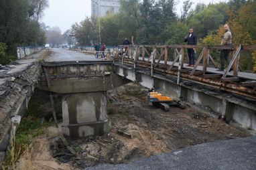
[[[123,50],[125,49],[126,50]],[[196,48],[198,58],[193,68],[184,68],[185,50]],[[216,50],[232,50],[232,59],[225,72],[209,71],[211,67],[218,68],[210,52]],[[119,46],[116,49],[114,60],[123,64],[131,64],[133,68],[143,67],[154,72],[163,72],[206,83],[223,90],[229,90],[246,96],[256,98],[256,74],[239,72],[239,58],[243,51],[254,51],[256,45],[251,46],[190,46],[190,45],[169,45],[169,46]],[[219,58],[219,54],[218,54]],[[114,62],[115,62],[114,61]],[[200,69],[198,66],[200,65]],[[233,72],[229,72],[233,67]],[[208,70],[207,70],[208,69]],[[212,69],[211,69],[212,70]],[[244,75],[245,74],[245,75]],[[178,81],[177,81],[178,82]]]

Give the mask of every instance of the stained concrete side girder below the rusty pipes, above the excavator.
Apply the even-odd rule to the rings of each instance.
[[[256,131],[256,106],[255,100],[252,98],[236,96],[218,88],[188,80],[181,80],[181,84],[178,86],[176,78],[168,78],[160,74],[150,76],[148,70],[143,72],[129,66],[114,65],[113,71],[133,82],[139,82],[147,88],[154,87],[157,92],[162,92],[174,100],[184,100],[192,106],[208,112],[213,117],[220,116],[227,122],[237,122],[245,129]]]

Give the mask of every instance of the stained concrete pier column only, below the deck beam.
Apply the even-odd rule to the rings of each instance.
[[[109,132],[105,92],[65,94],[62,97],[62,133],[81,139]]]

